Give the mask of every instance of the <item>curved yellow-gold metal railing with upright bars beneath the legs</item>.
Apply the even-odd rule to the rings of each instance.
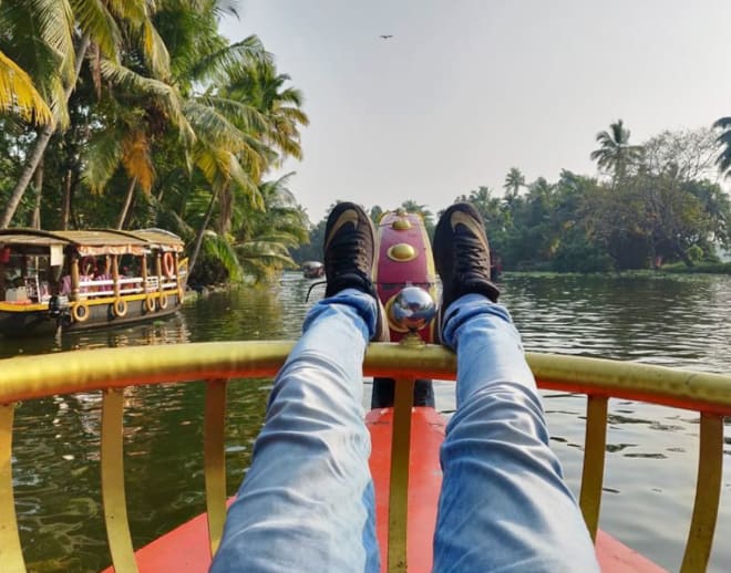
[[[101,390],[102,503],[117,573],[136,571],[126,517],[122,451],[124,387],[207,381],[205,481],[209,543],[215,552],[226,512],[224,423],[231,378],[272,376],[291,342],[220,342],[137,346],[28,356],[2,361],[0,381],[0,563],[24,572],[12,489],[12,425],[16,403],[55,394]],[[90,353],[93,357],[90,360]],[[704,570],[718,515],[722,473],[723,416],[731,414],[731,376],[611,361],[529,354],[544,388],[586,394],[587,423],[581,510],[596,534],[601,500],[609,397],[636,399],[700,413],[696,501],[681,571]],[[371,344],[368,376],[397,378],[392,444],[389,571],[405,571],[406,488],[411,389],[415,378],[454,379],[454,354],[440,346]]]

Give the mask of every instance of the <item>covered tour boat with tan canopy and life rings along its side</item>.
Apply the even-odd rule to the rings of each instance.
[[[0,230],[0,334],[111,326],[175,312],[183,240],[162,229]]]

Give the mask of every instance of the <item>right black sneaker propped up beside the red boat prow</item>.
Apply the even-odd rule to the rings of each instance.
[[[434,265],[442,279],[442,302],[436,315],[441,338],[446,309],[464,294],[484,294],[497,302],[500,291],[490,280],[490,246],[485,223],[472,205],[452,205],[436,223]]]

